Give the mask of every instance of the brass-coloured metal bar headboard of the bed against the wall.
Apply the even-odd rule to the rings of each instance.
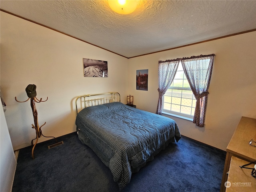
[[[98,98],[95,96],[102,96],[102,97]],[[79,99],[81,101],[80,104],[83,105],[84,108],[89,107],[89,106],[95,106],[95,105],[100,105],[100,104],[105,104],[105,103],[116,102],[116,101],[121,102],[121,97],[118,92],[78,96],[76,98],[76,114],[78,114],[77,101]]]

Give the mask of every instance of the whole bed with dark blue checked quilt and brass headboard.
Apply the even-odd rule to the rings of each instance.
[[[107,99],[86,100],[99,95]],[[81,98],[83,101],[77,102]],[[78,112],[82,103],[85,108]],[[130,182],[132,173],[181,138],[174,120],[122,104],[116,92],[79,96],[76,112],[78,138],[111,170],[120,190]]]

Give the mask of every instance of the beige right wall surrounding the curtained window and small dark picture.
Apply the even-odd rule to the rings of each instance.
[[[181,134],[226,150],[241,118],[256,118],[256,32],[129,59],[129,90],[138,108],[156,112],[158,60],[216,54],[205,127],[172,117]],[[136,70],[148,69],[148,91],[136,90]],[[252,137],[253,137],[252,133]],[[248,141],[249,142],[249,141]]]

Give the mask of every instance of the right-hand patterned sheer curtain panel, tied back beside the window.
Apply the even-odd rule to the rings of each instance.
[[[184,73],[196,98],[193,123],[198,127],[204,127],[214,56],[214,54],[211,54],[181,59]]]

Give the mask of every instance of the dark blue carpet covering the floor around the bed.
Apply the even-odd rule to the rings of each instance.
[[[39,138],[40,139],[40,138]],[[12,192],[118,192],[110,170],[76,132],[22,148]],[[226,152],[182,137],[132,174],[122,192],[219,192]]]

